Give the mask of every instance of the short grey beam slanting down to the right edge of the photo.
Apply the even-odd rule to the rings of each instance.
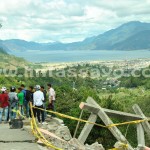
[[[133,110],[137,115],[140,115],[143,119],[147,119],[147,117],[143,114],[142,110],[140,109],[140,107],[135,104],[133,105]],[[150,124],[148,121],[142,122],[144,131],[148,134],[148,136],[150,136]]]

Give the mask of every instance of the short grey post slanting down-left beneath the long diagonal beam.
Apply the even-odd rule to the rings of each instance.
[[[88,121],[90,121],[90,122],[96,122],[96,120],[97,120],[97,115],[91,113],[91,115],[90,115]],[[89,123],[86,123],[86,124],[85,124],[84,128],[82,129],[82,131],[81,131],[81,133],[80,133],[80,135],[79,135],[79,137],[78,137],[78,140],[79,140],[82,144],[85,143],[85,141],[86,141],[87,137],[89,136],[89,134],[90,134],[90,132],[91,132],[93,126],[94,126],[94,124],[89,124]]]

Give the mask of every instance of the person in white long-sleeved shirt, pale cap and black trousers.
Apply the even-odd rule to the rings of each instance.
[[[40,85],[35,86],[35,93],[33,94],[33,106],[35,106],[35,115],[37,116],[39,124],[41,123],[41,115],[42,115],[42,124],[46,124],[44,121],[44,111],[40,110],[43,109],[43,101],[44,101],[44,94],[40,90]],[[40,109],[38,109],[40,108]]]

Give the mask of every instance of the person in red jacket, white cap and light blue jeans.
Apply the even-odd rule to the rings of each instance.
[[[7,88],[2,87],[1,94],[0,94],[0,123],[2,123],[2,116],[4,112],[4,121],[7,123],[7,117],[8,117],[8,107],[9,107],[9,97],[6,93]]]

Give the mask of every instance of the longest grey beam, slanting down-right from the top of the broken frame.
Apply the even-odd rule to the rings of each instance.
[[[101,106],[98,105],[98,103],[96,103],[93,98],[91,97],[88,97],[87,99],[87,103],[89,104],[93,104],[95,105],[96,107],[99,108],[99,112],[98,112],[98,116],[102,119],[102,121],[104,122],[104,124],[106,126],[110,125],[110,124],[113,124],[112,120],[107,116],[107,114],[104,112],[104,110],[101,108]],[[120,132],[120,130],[114,126],[114,127],[111,127],[111,128],[108,128],[111,133],[114,135],[114,137],[124,143],[124,144],[128,144],[128,149],[129,150],[133,150],[132,146],[130,145],[130,143],[127,141],[127,139],[122,135],[122,133]]]

